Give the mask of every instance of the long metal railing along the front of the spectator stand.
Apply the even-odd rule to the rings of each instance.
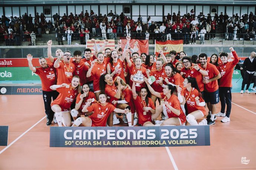
[[[89,37],[88,37],[89,35]],[[126,35],[130,35],[132,39],[138,40],[154,40],[166,41],[168,40],[184,40],[184,44],[193,43],[192,41],[201,41],[202,37],[186,33],[148,33],[149,37],[146,37],[146,33],[89,33],[79,34],[73,33],[71,35],[71,44],[86,44],[86,40],[95,39],[125,39]],[[37,34],[35,45],[47,45],[48,40],[53,40],[53,45],[69,45],[69,35],[67,34]],[[207,33],[204,35],[204,43],[206,44],[240,44],[240,45],[255,45],[256,34],[232,34],[232,33]],[[4,36],[0,37],[0,46],[20,46],[32,44],[33,40],[25,35],[16,35],[13,39],[4,39]]]

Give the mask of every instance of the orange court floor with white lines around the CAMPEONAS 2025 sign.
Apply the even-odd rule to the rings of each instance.
[[[210,146],[129,148],[49,147],[42,95],[1,95],[0,125],[9,126],[9,139],[0,146],[0,169],[256,169],[256,95],[232,95],[231,121],[217,117]]]

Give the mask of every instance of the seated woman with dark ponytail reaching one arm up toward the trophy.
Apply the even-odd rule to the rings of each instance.
[[[164,86],[163,93],[159,93],[154,91],[154,89],[148,83],[147,79],[145,80],[145,82],[152,95],[155,95],[163,99],[163,101],[161,101],[161,104],[157,106],[157,108],[155,109],[155,114],[154,116],[152,116],[152,118],[154,120],[157,119],[161,112],[163,112],[167,119],[161,121],[156,120],[155,126],[183,125],[186,122],[186,116],[183,110],[181,109],[178,97],[173,95],[173,92],[175,91],[176,87],[167,84]]]

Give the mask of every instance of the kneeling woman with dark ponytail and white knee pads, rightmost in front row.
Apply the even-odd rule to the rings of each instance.
[[[178,100],[181,103],[181,108],[184,109],[184,104],[187,103],[188,115],[186,117],[186,125],[207,125],[207,120],[203,119],[197,123],[197,119],[201,119],[206,114],[205,102],[201,96],[200,89],[197,85],[196,78],[187,77],[183,82],[184,89],[178,88]]]

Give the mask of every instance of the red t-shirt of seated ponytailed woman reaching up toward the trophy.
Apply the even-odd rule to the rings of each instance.
[[[175,113],[173,113],[171,111],[171,109],[169,109],[167,106],[165,106],[167,115],[169,118],[180,118],[181,120],[181,124],[186,122],[186,115],[184,114],[184,112],[182,111],[181,107],[180,107],[180,101],[178,100],[178,97],[175,95],[171,95],[171,97],[169,99],[167,99],[164,95],[164,93],[160,93],[161,98],[164,99],[165,102],[168,102],[169,105],[171,105],[174,109],[180,110],[180,115],[176,115]]]

